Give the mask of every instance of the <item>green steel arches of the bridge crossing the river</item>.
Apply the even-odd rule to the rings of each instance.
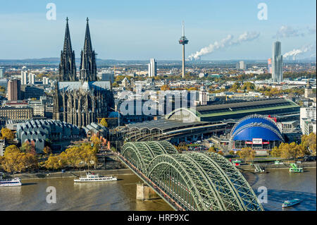
[[[220,154],[180,154],[167,141],[128,142],[121,154],[182,209],[263,210],[240,171]]]

